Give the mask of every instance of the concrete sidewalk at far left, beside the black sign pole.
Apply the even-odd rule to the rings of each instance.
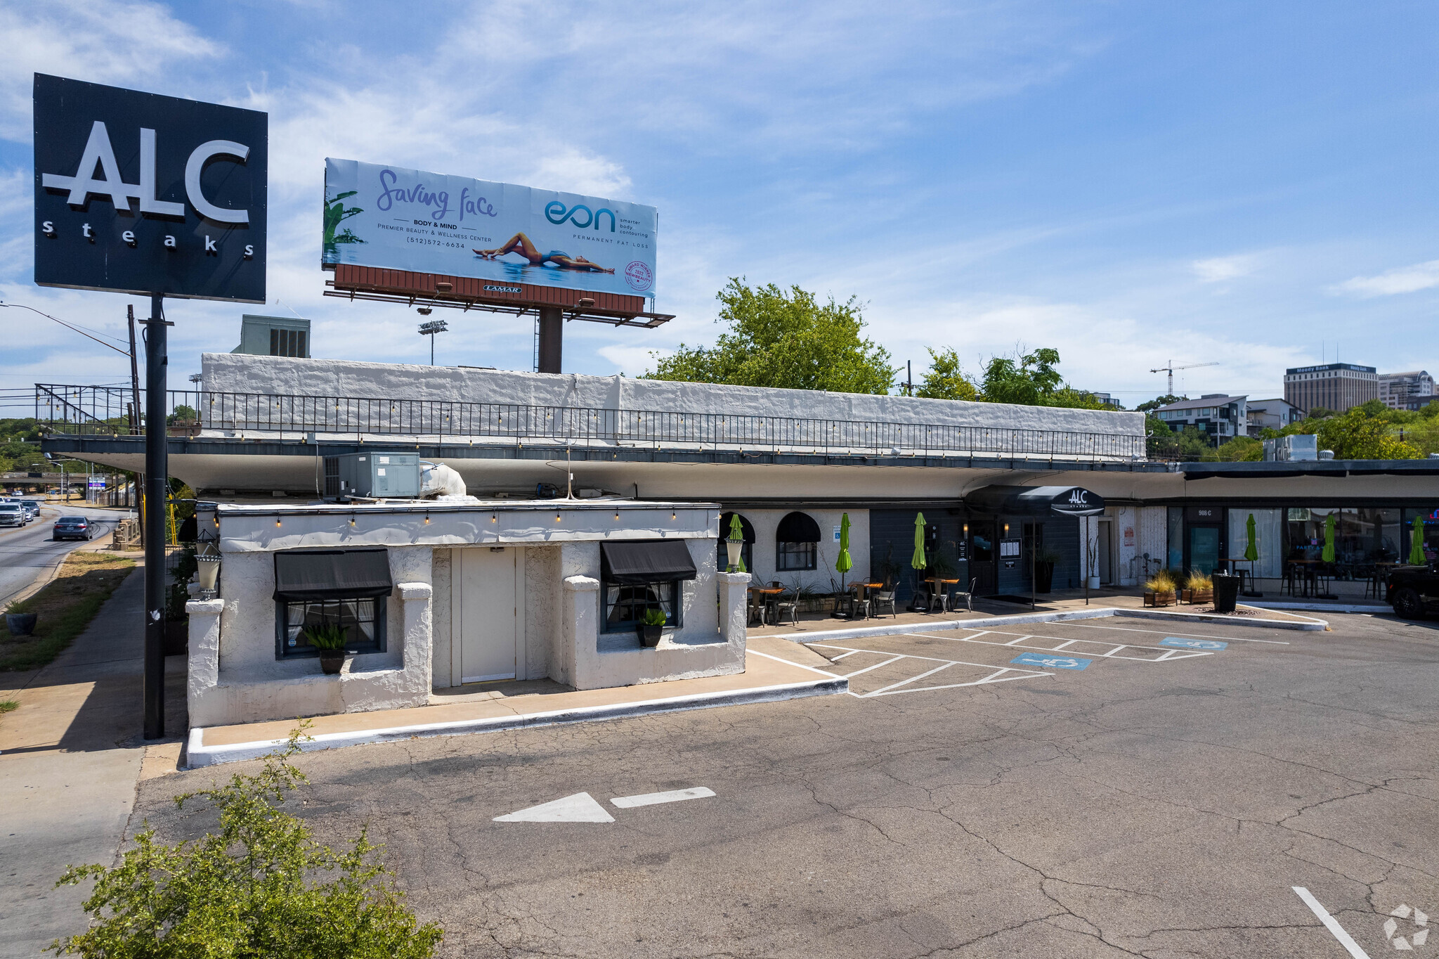
[[[85,929],[85,887],[53,888],[68,865],[109,864],[130,824],[145,756],[142,566],[55,662],[0,674],[0,956],[32,956]],[[184,657],[167,664],[165,729],[184,731]],[[178,752],[178,746],[173,746]]]

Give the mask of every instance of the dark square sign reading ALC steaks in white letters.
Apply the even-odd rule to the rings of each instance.
[[[265,302],[269,117],[35,75],[35,282]]]

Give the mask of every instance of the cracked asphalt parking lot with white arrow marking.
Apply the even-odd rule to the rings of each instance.
[[[311,753],[292,805],[446,956],[1354,955],[1294,887],[1439,950],[1439,623],[1333,622],[813,644],[852,694]]]

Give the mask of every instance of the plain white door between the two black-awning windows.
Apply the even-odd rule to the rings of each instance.
[[[519,674],[521,549],[455,550],[452,675],[460,683],[514,680]]]

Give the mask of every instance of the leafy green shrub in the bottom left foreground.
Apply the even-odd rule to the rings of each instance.
[[[304,729],[266,756],[258,775],[236,773],[224,786],[176,796],[180,808],[200,798],[219,809],[217,832],[171,847],[157,842],[147,824],[119,865],[66,870],[56,886],[95,880],[85,900],[95,924],[50,949],[92,959],[433,956],[443,932],[420,926],[406,909],[364,828],[348,851],[334,852],[279,809],[307,782],[289,765]],[[325,874],[337,875],[322,881]]]

